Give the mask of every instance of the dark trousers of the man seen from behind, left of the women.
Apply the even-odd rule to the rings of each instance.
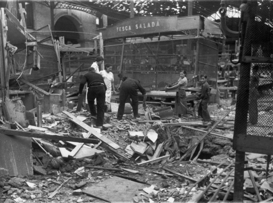
[[[97,99],[97,112],[95,107]],[[87,102],[92,116],[97,116],[96,126],[102,126],[104,120],[105,88],[103,85],[88,88]]]

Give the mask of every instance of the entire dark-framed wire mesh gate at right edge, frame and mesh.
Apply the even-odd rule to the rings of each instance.
[[[242,8],[242,62],[233,148],[273,154],[273,5],[272,1],[248,1]]]

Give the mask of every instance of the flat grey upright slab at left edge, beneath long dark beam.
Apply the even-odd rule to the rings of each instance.
[[[0,133],[0,166],[10,176],[33,175],[31,138]]]

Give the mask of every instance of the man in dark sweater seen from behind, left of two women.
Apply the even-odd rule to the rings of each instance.
[[[89,73],[86,73],[82,77],[80,81],[79,95],[82,94],[86,82],[88,87],[87,102],[90,108],[90,113],[92,116],[97,116],[96,127],[102,128],[104,120],[105,92],[107,87],[104,83],[103,77],[100,74],[95,73],[93,67],[89,68]],[[97,99],[97,112],[94,102],[95,99]]]

